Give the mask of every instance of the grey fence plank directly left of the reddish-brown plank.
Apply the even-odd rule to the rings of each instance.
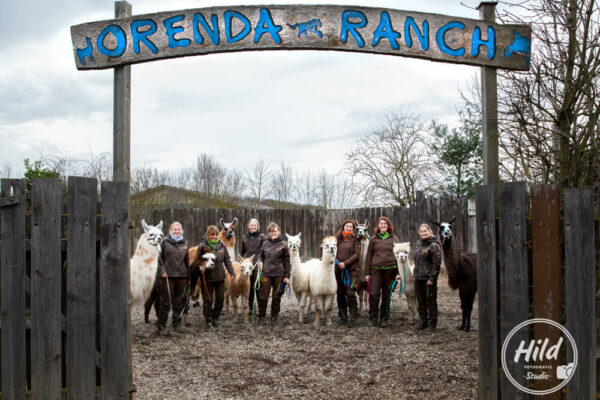
[[[508,333],[519,323],[528,318],[529,292],[527,279],[527,215],[526,192],[524,183],[505,183],[498,185],[498,214],[499,214],[499,259],[500,259],[500,332],[502,342]],[[479,275],[479,274],[478,274]],[[515,340],[520,343],[529,337],[522,331],[518,332]],[[515,349],[508,349],[508,354],[514,354]],[[523,386],[523,365],[507,363],[511,375]],[[525,395],[502,375],[502,399],[523,399]]]

